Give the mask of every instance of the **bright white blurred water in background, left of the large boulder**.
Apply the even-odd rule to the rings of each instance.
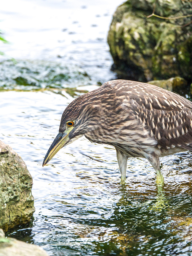
[[[18,59],[58,61],[86,69],[92,83],[115,78],[107,32],[123,0],[7,0],[0,28],[10,44],[6,55]],[[2,58],[1,59],[6,59]]]

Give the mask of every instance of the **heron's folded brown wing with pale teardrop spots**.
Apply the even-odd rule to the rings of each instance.
[[[159,148],[192,150],[192,103],[172,92],[150,87],[129,95],[131,108]]]

